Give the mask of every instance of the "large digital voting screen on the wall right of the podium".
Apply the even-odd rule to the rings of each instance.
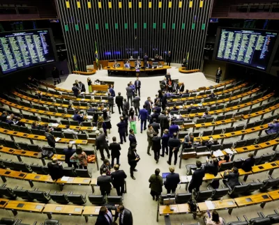
[[[220,28],[216,59],[266,71],[276,46],[276,31]]]

